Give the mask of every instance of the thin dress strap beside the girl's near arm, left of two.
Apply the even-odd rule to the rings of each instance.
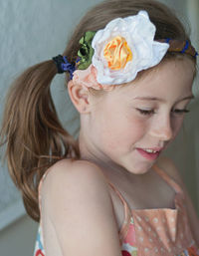
[[[130,210],[127,202],[125,201],[124,197],[119,192],[119,190],[116,189],[116,187],[109,181],[109,179],[106,177],[106,175],[104,175],[104,177],[105,177],[107,183],[113,189],[113,191],[117,194],[117,196],[121,200],[121,202],[123,204],[123,207],[124,207],[124,221],[123,221],[123,224],[122,224],[122,226],[119,230],[119,241],[120,241],[120,245],[121,245],[122,242],[123,242],[123,239],[127,235],[128,227],[129,227],[130,220],[131,220],[131,210]]]

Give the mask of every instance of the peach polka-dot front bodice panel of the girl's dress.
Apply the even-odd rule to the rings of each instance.
[[[190,230],[180,222],[180,209],[135,210],[129,231],[123,239],[123,255],[199,255],[185,253],[194,241]],[[194,248],[194,247],[193,247]],[[183,254],[184,253],[184,254]]]

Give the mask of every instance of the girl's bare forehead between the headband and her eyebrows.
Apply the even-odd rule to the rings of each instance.
[[[179,98],[191,94],[195,66],[189,59],[162,62],[138,80],[123,86],[121,95]]]

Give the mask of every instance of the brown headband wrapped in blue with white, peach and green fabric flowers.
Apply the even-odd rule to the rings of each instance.
[[[76,68],[66,57],[53,60],[58,73],[70,72],[74,83],[110,90],[114,85],[133,81],[138,72],[159,64],[166,52],[194,58],[198,55],[188,40],[154,40],[155,31],[147,12],[139,11],[134,16],[116,18],[97,32],[86,32],[80,40]]]

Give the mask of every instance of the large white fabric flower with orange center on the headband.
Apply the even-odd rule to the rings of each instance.
[[[92,42],[95,49],[92,62],[98,71],[98,83],[128,83],[135,79],[139,71],[159,64],[169,44],[154,41],[155,31],[156,28],[150,22],[146,11],[114,19],[104,29],[99,30]],[[118,46],[115,43],[118,43]],[[121,61],[120,54],[124,56]]]

